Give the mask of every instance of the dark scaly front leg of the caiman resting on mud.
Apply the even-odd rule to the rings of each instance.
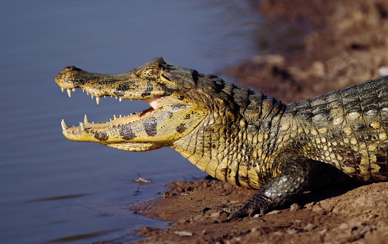
[[[282,154],[275,161],[274,179],[242,205],[225,209],[229,219],[264,214],[281,207],[303,192],[348,180],[336,167],[298,154]]]

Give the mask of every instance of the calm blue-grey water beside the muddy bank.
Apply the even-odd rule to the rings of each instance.
[[[160,195],[172,180],[203,177],[170,148],[127,152],[67,140],[78,125],[146,109],[145,102],[69,99],[54,77],[64,66],[121,73],[163,56],[217,74],[257,52],[245,2],[2,1],[0,9],[0,240],[2,243],[130,241],[166,222],[124,207]],[[137,172],[154,183],[137,192]]]

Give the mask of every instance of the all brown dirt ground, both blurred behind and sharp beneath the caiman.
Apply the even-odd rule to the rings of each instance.
[[[281,31],[258,34],[266,54],[225,71],[239,84],[290,102],[388,74],[387,1],[261,0],[252,7]],[[275,45],[274,38],[284,40]],[[230,222],[222,208],[256,191],[205,179],[169,187],[163,198],[129,208],[173,225],[140,228],[147,238],[139,243],[388,243],[388,182],[305,193],[291,206]]]

